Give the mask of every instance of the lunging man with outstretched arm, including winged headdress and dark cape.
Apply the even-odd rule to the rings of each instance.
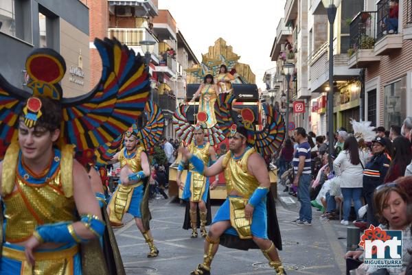
[[[199,174],[211,177],[223,172],[227,187],[227,199],[218,209],[205,240],[203,263],[191,274],[210,274],[219,244],[242,250],[260,248],[275,273],[286,274],[277,254],[277,249],[282,250],[282,240],[268,169],[261,156],[279,150],[284,139],[284,121],[272,106],[263,105],[266,125],[261,131],[255,131],[250,109],[242,110],[242,123],[232,123],[229,128],[231,100],[223,98],[221,102],[217,117],[222,121],[222,131],[228,134],[230,151],[206,167],[186,147],[181,149]]]

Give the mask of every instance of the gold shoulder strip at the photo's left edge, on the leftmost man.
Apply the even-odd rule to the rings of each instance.
[[[16,177],[17,161],[19,160],[19,144],[12,142],[5,152],[3,159],[3,171],[1,172],[1,193],[8,195],[14,189],[14,178]]]

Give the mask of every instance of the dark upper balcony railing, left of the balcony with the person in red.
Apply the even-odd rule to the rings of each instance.
[[[373,49],[376,41],[377,12],[359,12],[350,23],[350,49]],[[350,54],[351,55],[351,54]]]

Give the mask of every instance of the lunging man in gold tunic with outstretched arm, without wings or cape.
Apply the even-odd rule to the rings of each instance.
[[[187,148],[181,149],[183,156],[203,175],[210,177],[223,171],[228,194],[206,237],[203,263],[191,274],[210,274],[211,261],[222,235],[236,235],[240,242],[252,239],[274,268],[275,274],[286,274],[275,243],[268,239],[268,219],[276,217],[270,217],[271,214],[266,213],[266,194],[271,184],[266,163],[253,148],[247,147],[247,130],[244,127],[231,129],[229,149],[230,152],[221,156],[211,167],[206,167]],[[227,246],[227,243],[222,244]]]

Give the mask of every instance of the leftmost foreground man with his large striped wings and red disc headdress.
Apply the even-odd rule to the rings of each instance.
[[[141,56],[117,40],[95,45],[102,77],[87,95],[62,97],[66,65],[53,49],[27,58],[32,93],[0,75],[0,274],[124,274],[123,267],[108,267],[118,262],[104,259],[102,213],[73,158],[74,150],[95,150],[133,124],[150,93],[149,74]]]

